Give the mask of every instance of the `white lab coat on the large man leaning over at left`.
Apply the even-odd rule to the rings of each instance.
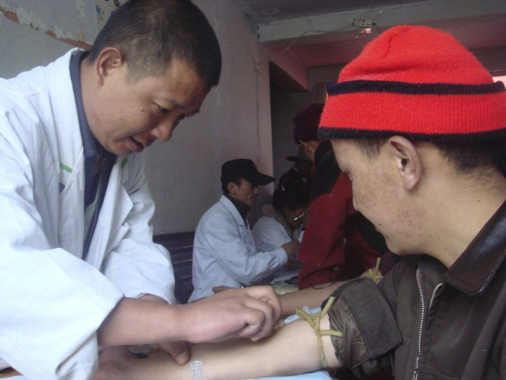
[[[0,357],[36,380],[87,379],[96,330],[123,295],[173,302],[170,258],[152,242],[142,154],[118,157],[80,258],[84,156],[71,52],[0,79]]]

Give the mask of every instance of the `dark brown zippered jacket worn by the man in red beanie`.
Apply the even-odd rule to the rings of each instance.
[[[378,287],[339,288],[329,317],[336,356],[356,376],[396,380],[506,379],[506,205],[448,270],[406,257]],[[351,318],[352,317],[352,318]]]

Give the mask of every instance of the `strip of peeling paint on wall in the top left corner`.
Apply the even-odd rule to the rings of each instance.
[[[83,0],[78,0],[78,3],[83,3]],[[77,32],[78,38],[76,39],[74,36],[72,36],[71,33],[62,30],[61,28],[53,25],[47,25],[41,19],[36,17],[35,14],[28,10],[25,10],[25,8],[14,6],[5,2],[4,0],[0,0],[0,14],[3,14],[6,19],[13,21],[14,23],[26,25],[28,28],[43,32],[47,36],[68,43],[69,45],[81,47],[85,50],[88,50],[91,47],[89,43],[85,43],[83,41],[83,35],[80,32],[81,28],[79,28]],[[84,8],[80,9],[79,15],[80,17],[85,17]],[[82,19],[80,19],[80,21],[81,20]]]

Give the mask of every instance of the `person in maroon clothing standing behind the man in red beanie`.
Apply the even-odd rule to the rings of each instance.
[[[299,288],[358,277],[375,268],[388,251],[373,225],[353,207],[351,182],[342,175],[329,140],[316,136],[323,104],[311,104],[294,118],[294,140],[314,161],[309,200],[311,217],[305,227],[299,259]],[[380,273],[391,268],[384,260]]]

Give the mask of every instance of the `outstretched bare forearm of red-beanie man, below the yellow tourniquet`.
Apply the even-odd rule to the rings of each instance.
[[[328,317],[320,324],[329,328]],[[331,367],[340,366],[329,337],[322,338],[325,357]],[[192,360],[203,362],[206,380],[236,380],[311,372],[321,368],[314,330],[307,321],[297,320],[272,337],[252,342],[234,339],[219,344],[192,347]],[[190,366],[178,366],[166,356],[133,360],[122,368],[122,380],[192,380]]]

